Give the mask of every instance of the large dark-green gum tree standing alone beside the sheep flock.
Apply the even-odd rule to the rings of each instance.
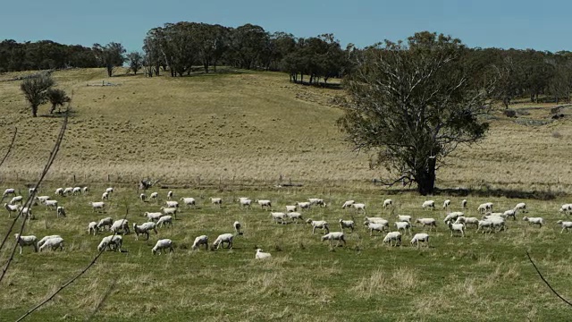
[[[459,39],[427,31],[385,41],[356,55],[345,80],[352,104],[338,120],[357,150],[374,152],[393,178],[431,194],[435,171],[458,145],[484,137],[490,86],[475,89],[468,50]]]

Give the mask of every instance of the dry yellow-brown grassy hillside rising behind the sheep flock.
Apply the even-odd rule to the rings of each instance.
[[[4,75],[4,79],[8,76]],[[369,182],[383,170],[342,140],[332,104],[341,90],[291,84],[282,73],[221,72],[184,78],[105,77],[103,69],[55,72],[72,93],[74,114],[48,180],[173,183]],[[111,82],[117,86],[101,85]],[[5,180],[36,178],[60,126],[33,119],[19,81],[0,82],[0,133],[19,135],[0,169]],[[517,106],[517,119],[492,116],[486,140],[460,148],[438,173],[440,187],[570,191],[569,120],[549,120],[551,106]],[[40,106],[46,114],[48,106]],[[541,125],[526,125],[526,120]],[[530,123],[530,122],[529,122]],[[2,148],[8,145],[8,139]],[[526,175],[524,175],[526,174]],[[198,179],[200,178],[200,179]]]

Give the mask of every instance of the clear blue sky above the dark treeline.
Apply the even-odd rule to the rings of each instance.
[[[429,30],[469,47],[572,50],[572,1],[431,0],[28,0],[2,4],[0,39],[91,47],[120,42],[141,50],[147,30],[165,22],[238,27],[257,24],[296,37],[333,33],[345,47],[366,47]]]

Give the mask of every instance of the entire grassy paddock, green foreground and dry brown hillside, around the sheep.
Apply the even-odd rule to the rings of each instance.
[[[13,74],[0,76],[0,80]],[[543,284],[528,262],[528,250],[552,286],[572,299],[572,233],[556,225],[566,216],[572,187],[570,120],[549,122],[552,106],[520,104],[516,119],[490,116],[492,128],[479,145],[462,148],[451,166],[438,174],[440,188],[475,189],[467,197],[430,197],[435,211],[420,207],[415,193],[381,190],[371,184],[383,171],[370,170],[368,157],[357,155],[335,127],[341,110],[333,104],[343,91],[290,84],[284,74],[220,72],[180,79],[121,76],[108,79],[103,70],[55,72],[58,86],[73,92],[73,116],[55,164],[39,195],[58,199],[66,218],[34,206],[24,234],[38,238],[61,234],[63,251],[34,253],[24,248],[0,282],[0,321],[13,321],[97,254],[108,233],[87,234],[90,221],[121,218],[129,208],[130,224],[142,223],[145,211],[158,211],[160,200],[141,202],[134,182],[161,179],[175,199],[194,197],[197,209],[182,208],[172,228],[151,233],[149,241],[123,236],[126,252],[105,252],[88,273],[32,314],[29,321],[566,321],[568,307]],[[110,81],[118,86],[87,86]],[[15,81],[0,81],[0,127],[8,146],[14,127],[18,137],[0,167],[0,188],[14,187],[26,197],[26,185],[38,178],[53,147],[61,118],[31,117]],[[48,106],[40,107],[46,114]],[[568,109],[564,109],[568,114]],[[2,153],[4,155],[4,153]],[[303,187],[276,188],[283,181]],[[75,175],[76,182],[73,182]],[[109,176],[110,182],[107,182]],[[200,179],[198,179],[200,178]],[[55,197],[57,187],[88,185],[88,196]],[[107,186],[116,191],[105,214],[92,212],[88,201],[101,198]],[[554,199],[509,199],[480,192],[543,191]],[[480,191],[480,192],[479,192]],[[149,191],[150,192],[150,191]],[[357,222],[346,233],[347,245],[328,246],[309,225],[278,225],[258,207],[241,209],[238,197],[271,199],[274,211],[308,198],[324,198],[328,208],[303,212],[305,218],[327,220],[339,231],[340,218]],[[222,197],[214,208],[209,197]],[[383,199],[395,202],[393,211]],[[495,210],[525,201],[527,216],[543,216],[542,228],[509,220],[500,233],[450,236],[439,208],[443,199],[460,210],[468,199],[467,216],[478,216],[484,201]],[[341,209],[347,199],[367,205],[368,216],[390,219],[395,214],[434,217],[437,232],[430,247],[417,250],[406,234],[400,247],[383,244],[383,234],[370,236],[363,214]],[[2,203],[6,200],[2,200]],[[0,238],[13,222],[3,211]],[[244,235],[232,250],[193,251],[194,238],[231,233],[239,220]],[[17,222],[21,224],[21,220]],[[414,233],[423,229],[415,226]],[[172,254],[151,254],[156,240],[170,238]],[[0,251],[4,266],[14,246]],[[254,259],[255,249],[272,253]]]

